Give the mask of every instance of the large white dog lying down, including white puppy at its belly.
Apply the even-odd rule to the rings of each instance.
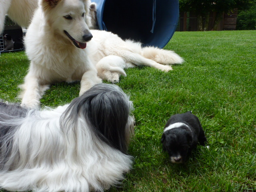
[[[183,62],[173,51],[142,48],[111,32],[90,31],[94,9],[90,0],[39,1],[25,38],[31,62],[22,85],[22,106],[38,108],[48,84],[55,82],[81,80],[81,95],[102,82],[99,77],[118,82],[126,75],[124,68],[150,66],[167,72],[172,70],[168,64]]]

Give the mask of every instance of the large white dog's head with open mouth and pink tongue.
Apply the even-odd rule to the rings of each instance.
[[[41,0],[40,3],[52,32],[81,49],[92,39],[90,4],[90,0]]]

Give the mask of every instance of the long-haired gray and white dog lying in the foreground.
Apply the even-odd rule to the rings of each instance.
[[[1,102],[0,188],[89,192],[118,184],[133,161],[132,108],[112,84],[97,84],[56,109]]]

